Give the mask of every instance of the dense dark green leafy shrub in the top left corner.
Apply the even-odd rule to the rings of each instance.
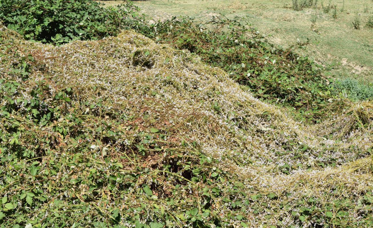
[[[134,28],[136,22],[128,16],[135,11],[132,4],[103,7],[91,0],[0,1],[0,18],[7,28],[27,39],[54,44],[100,39]]]

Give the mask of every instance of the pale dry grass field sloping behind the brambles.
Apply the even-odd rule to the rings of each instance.
[[[105,1],[111,5],[121,2]],[[324,65],[337,63],[333,76],[351,77],[367,84],[373,82],[373,29],[365,26],[373,13],[371,0],[330,1],[331,5],[336,5],[337,19],[332,15],[334,9],[323,12],[322,1],[318,1],[316,10],[305,8],[301,11],[292,9],[291,0],[141,0],[134,3],[155,20],[169,19],[173,15],[191,16],[197,20],[211,16],[240,16],[270,36],[272,42],[284,47],[298,39],[306,41],[310,38],[315,43],[308,46],[304,54]],[[323,3],[324,6],[328,4],[329,1]],[[361,19],[360,29],[354,29],[352,25],[355,13]],[[310,20],[314,14],[317,20],[312,29]]]

